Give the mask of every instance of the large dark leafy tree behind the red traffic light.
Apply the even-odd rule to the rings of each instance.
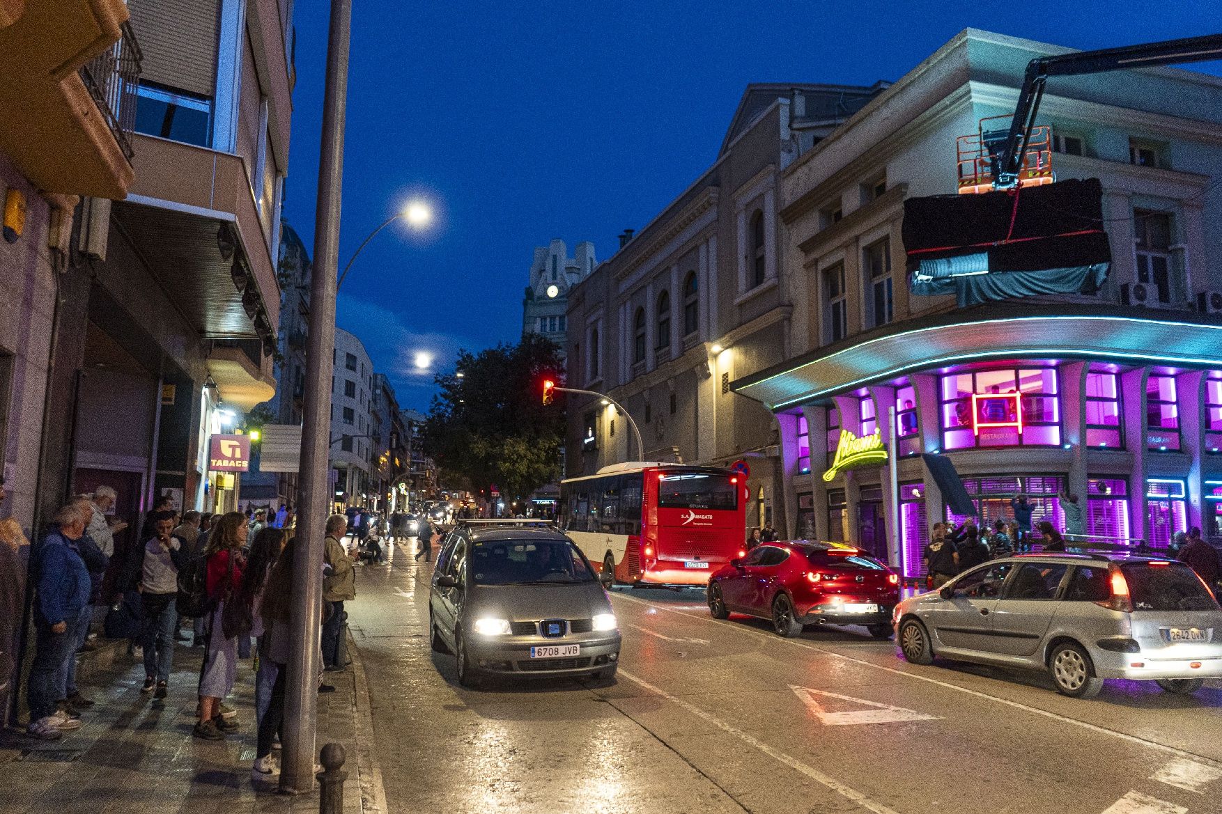
[[[560,347],[536,334],[461,351],[462,375],[436,378],[441,392],[424,423],[424,447],[446,483],[524,497],[558,478],[565,412],[543,403],[543,381],[561,369]]]

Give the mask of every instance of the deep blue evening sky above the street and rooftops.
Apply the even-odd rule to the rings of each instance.
[[[716,159],[750,82],[895,81],[968,27],[1078,49],[1222,28],[1216,0],[354,6],[340,265],[412,196],[440,218],[374,238],[338,324],[417,409],[434,390],[417,351],[445,370],[458,348],[516,341],[533,247],[591,240],[606,259]],[[327,9],[295,9],[285,218],[312,252]]]

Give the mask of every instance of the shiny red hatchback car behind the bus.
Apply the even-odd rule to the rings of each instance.
[[[759,616],[785,637],[807,625],[864,625],[874,638],[888,639],[899,574],[849,546],[765,543],[716,571],[708,598],[714,618]]]

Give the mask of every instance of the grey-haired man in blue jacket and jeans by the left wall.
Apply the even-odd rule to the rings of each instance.
[[[27,699],[34,737],[54,739],[79,728],[81,721],[59,709],[59,673],[76,651],[76,627],[81,609],[89,603],[89,571],[76,543],[84,537],[81,508],[68,504],[55,513],[55,529],[38,546],[34,568],[34,662],[29,670]]]

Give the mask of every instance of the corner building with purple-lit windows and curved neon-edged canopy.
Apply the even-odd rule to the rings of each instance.
[[[781,172],[792,358],[730,386],[780,422],[789,533],[919,574],[929,526],[963,519],[946,458],[985,522],[1023,494],[1036,521],[1099,541],[1166,545],[1193,526],[1217,538],[1222,79],[1048,81],[1040,149],[1058,180],[1102,183],[1102,216],[1064,213],[1067,230],[1106,231],[1101,285],[975,303],[914,293],[906,199],[970,186],[957,139],[1008,125],[1026,62],[1068,50],[964,31]],[[884,455],[837,467],[846,433]]]

